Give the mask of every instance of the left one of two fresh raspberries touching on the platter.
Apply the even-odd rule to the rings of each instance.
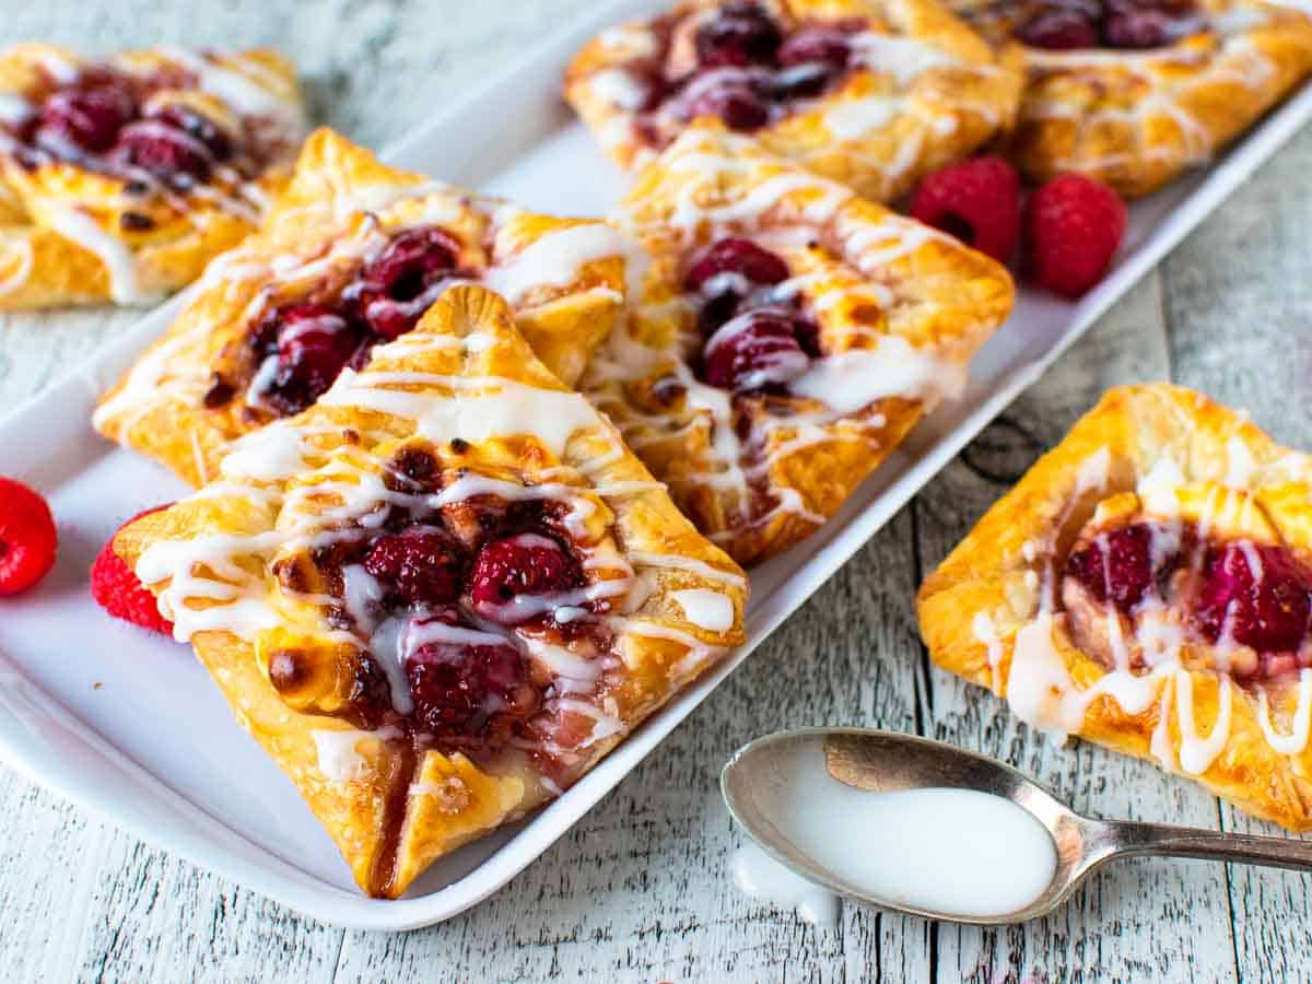
[[[1006,262],[1021,232],[1021,178],[1001,157],[975,157],[928,174],[911,214]]]

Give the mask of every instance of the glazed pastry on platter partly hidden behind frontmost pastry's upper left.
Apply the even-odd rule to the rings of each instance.
[[[396,171],[319,130],[260,232],[215,260],[94,424],[205,484],[232,441],[300,412],[450,285],[479,279],[573,383],[623,310],[628,248],[602,222],[537,215]]]

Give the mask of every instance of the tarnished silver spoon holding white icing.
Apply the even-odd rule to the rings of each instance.
[[[770,857],[808,882],[884,909],[953,922],[998,925],[1036,918],[1064,904],[1090,871],[1119,857],[1214,858],[1312,870],[1309,842],[1089,819],[1004,762],[941,741],[891,731],[799,728],[768,735],[733,754],[720,774],[720,790],[733,819],[748,834]],[[890,811],[911,804],[917,796],[908,798],[905,794],[916,790],[935,796],[929,804],[934,808],[964,808],[971,812],[970,816],[945,817],[945,825],[938,829],[932,821],[914,821],[921,827],[912,828],[913,834],[924,830],[925,838],[939,836],[941,848],[946,851],[964,849],[956,841],[977,833],[970,829],[976,817],[1002,811],[996,820],[1005,824],[992,840],[985,836],[987,850],[981,853],[998,855],[993,858],[994,863],[1005,862],[1000,853],[1005,854],[1013,846],[1018,853],[1031,855],[1017,857],[1014,867],[1004,869],[1008,875],[1015,874],[1014,879],[1002,879],[1015,880],[1014,891],[996,893],[996,905],[954,904],[951,891],[916,891],[914,886],[901,891],[891,888],[887,882],[875,884],[859,878],[862,867],[870,871],[869,862],[878,859],[862,858],[859,853],[878,853],[887,844],[878,842],[878,836],[871,838],[875,844],[853,842],[853,832],[859,828],[853,827],[851,813],[863,810],[866,796],[870,796],[869,806],[884,817],[880,823],[887,825]],[[958,794],[966,794],[966,798]],[[832,806],[817,806],[817,799],[829,795],[836,796]],[[987,798],[1012,807],[1002,808],[1001,803],[991,803]],[[924,794],[918,799],[924,800]],[[924,810],[926,803],[918,806]],[[1006,815],[1015,813],[1017,807],[1030,820]],[[798,816],[803,815],[808,828],[806,833],[799,833]],[[830,821],[832,832],[816,829]],[[1042,828],[1043,833],[1038,833],[1036,828]],[[1051,855],[1046,853],[1044,834],[1051,841]],[[913,836],[912,841],[916,840]],[[896,840],[890,844],[896,844]],[[846,858],[867,863],[848,863]],[[1026,862],[1034,863],[1026,869]],[[890,857],[888,863],[892,869],[916,870],[914,861],[908,867],[903,857]],[[966,863],[954,869],[943,880],[968,882],[971,867]]]

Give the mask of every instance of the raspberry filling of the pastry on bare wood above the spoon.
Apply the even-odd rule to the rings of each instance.
[[[1065,579],[1063,598],[1088,651],[1106,649],[1092,638],[1099,625],[1085,611],[1092,600],[1136,630],[1149,610],[1165,611],[1185,642],[1214,647],[1242,680],[1312,664],[1312,568],[1287,547],[1199,542],[1190,526],[1134,522],[1077,546]]]

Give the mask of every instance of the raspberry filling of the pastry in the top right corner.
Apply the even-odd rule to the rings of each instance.
[[[1203,26],[1193,0],[1047,0],[1031,10],[1017,35],[1051,51],[1147,50]]]

